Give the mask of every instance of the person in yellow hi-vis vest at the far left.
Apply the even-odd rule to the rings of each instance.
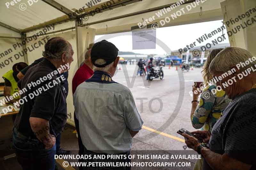
[[[19,92],[17,85],[19,78],[17,78],[17,74],[27,66],[28,64],[24,62],[16,63],[12,66],[12,70],[9,70],[2,76],[4,78],[4,97],[8,97],[10,99],[10,96]],[[13,100],[10,100],[11,103],[18,101],[20,99],[20,95],[14,95],[13,98]]]

